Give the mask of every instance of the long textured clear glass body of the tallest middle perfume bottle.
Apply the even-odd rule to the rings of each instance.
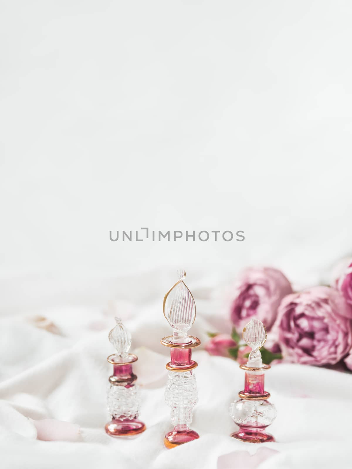
[[[188,430],[192,411],[198,401],[197,382],[193,371],[169,371],[165,402],[171,408],[174,430]]]

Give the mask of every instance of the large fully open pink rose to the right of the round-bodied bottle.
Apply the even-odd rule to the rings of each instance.
[[[337,363],[351,348],[352,309],[330,287],[313,287],[286,296],[275,328],[283,355],[298,363]]]

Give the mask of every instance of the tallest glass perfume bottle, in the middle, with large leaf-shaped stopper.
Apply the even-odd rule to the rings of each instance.
[[[194,369],[198,363],[192,360],[192,348],[200,345],[197,337],[188,331],[196,318],[196,304],[190,290],[184,283],[186,272],[177,271],[178,279],[164,297],[163,311],[173,335],[161,339],[161,344],[170,348],[171,361],[166,365],[168,381],[165,402],[171,408],[171,422],[174,429],[164,438],[167,448],[182,445],[199,438],[190,429],[193,408],[198,401]]]

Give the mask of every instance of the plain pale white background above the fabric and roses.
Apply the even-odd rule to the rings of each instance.
[[[2,277],[351,246],[348,1],[1,1]],[[245,231],[111,242],[109,230]]]

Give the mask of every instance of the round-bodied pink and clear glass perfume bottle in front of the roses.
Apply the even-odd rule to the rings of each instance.
[[[251,319],[243,329],[243,338],[252,348],[248,362],[240,365],[245,370],[245,389],[238,393],[240,399],[230,405],[230,416],[239,426],[231,437],[250,443],[275,441],[265,429],[276,417],[276,409],[268,399],[270,394],[264,390],[264,371],[270,365],[263,364],[260,348],[267,339],[267,330],[258,319]]]

